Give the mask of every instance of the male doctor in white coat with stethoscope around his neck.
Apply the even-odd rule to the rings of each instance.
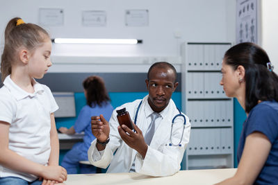
[[[171,99],[178,86],[176,80],[177,71],[170,63],[156,62],[149,68],[145,80],[149,94],[121,106],[126,107],[133,122],[138,110],[134,131],[119,125],[115,110],[109,123],[102,115],[92,116],[96,139],[88,150],[90,164],[100,168],[110,164],[107,173],[135,171],[156,177],[177,173],[189,141],[190,123],[182,113],[184,117],[177,116],[172,123],[180,114]]]

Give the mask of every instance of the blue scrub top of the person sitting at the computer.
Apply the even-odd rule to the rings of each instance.
[[[106,121],[109,121],[113,112],[113,107],[111,103],[102,103],[101,106],[93,104],[92,107],[85,105],[77,117],[74,123],[74,130],[77,133],[85,132],[83,137],[83,143],[80,146],[84,157],[88,159],[87,151],[90,148],[92,141],[95,139],[95,136],[92,134],[91,130],[91,117],[99,116],[100,114],[104,115]]]

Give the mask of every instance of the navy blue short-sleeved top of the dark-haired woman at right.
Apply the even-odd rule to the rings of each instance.
[[[278,103],[276,101],[263,101],[250,111],[243,123],[243,131],[238,143],[238,161],[243,154],[246,137],[253,132],[261,132],[267,136],[272,145],[268,159],[254,184],[276,184],[278,182]]]

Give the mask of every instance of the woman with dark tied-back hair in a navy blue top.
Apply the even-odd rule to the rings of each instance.
[[[238,99],[247,118],[238,143],[238,170],[219,184],[278,182],[278,77],[261,47],[231,47],[222,62],[220,85]]]

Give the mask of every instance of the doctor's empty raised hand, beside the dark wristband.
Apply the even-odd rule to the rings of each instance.
[[[108,121],[104,116],[92,116],[91,117],[92,134],[101,142],[105,142],[109,137],[110,127]]]

